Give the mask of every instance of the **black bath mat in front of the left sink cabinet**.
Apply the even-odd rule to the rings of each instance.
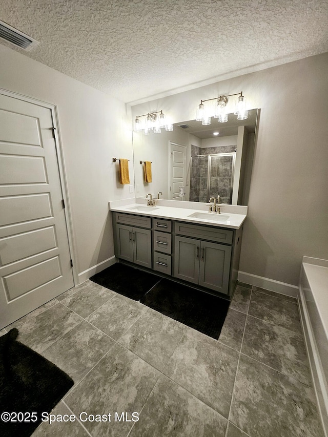
[[[90,281],[130,299],[140,300],[159,279],[156,275],[117,262],[92,276]]]

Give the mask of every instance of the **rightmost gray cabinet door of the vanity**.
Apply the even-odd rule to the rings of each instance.
[[[228,294],[231,246],[202,241],[199,285]]]

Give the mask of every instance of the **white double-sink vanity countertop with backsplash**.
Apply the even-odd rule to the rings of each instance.
[[[139,208],[139,210],[137,210]],[[147,200],[140,198],[109,202],[109,210],[162,219],[208,224],[211,226],[239,229],[247,216],[247,206],[220,204],[221,214],[208,213],[206,203],[156,200],[156,206],[147,206]],[[200,213],[200,217],[190,215]]]

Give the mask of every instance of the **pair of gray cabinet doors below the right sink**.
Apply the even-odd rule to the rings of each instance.
[[[231,246],[175,237],[174,276],[194,284],[228,293]]]

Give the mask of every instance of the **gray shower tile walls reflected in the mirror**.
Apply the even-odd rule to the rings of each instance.
[[[215,153],[231,153],[236,149],[235,145],[207,147],[201,149],[195,145],[191,146],[193,164],[191,169],[190,199],[192,202],[208,202],[208,157]],[[206,155],[202,158],[199,155]],[[212,157],[211,179],[209,197],[220,195],[221,203],[228,203],[231,196],[231,157]]]

